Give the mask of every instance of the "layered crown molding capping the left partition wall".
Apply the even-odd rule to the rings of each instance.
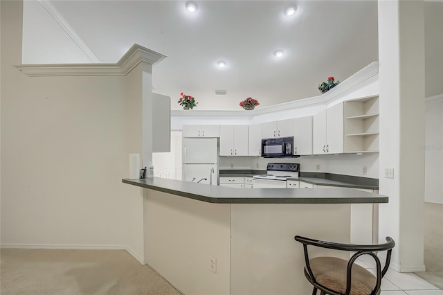
[[[141,62],[156,64],[166,55],[134,44],[116,64],[15,64],[30,77],[127,75]]]

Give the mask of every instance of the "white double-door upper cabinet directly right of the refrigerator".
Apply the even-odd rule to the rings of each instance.
[[[248,125],[220,126],[220,156],[248,155]]]

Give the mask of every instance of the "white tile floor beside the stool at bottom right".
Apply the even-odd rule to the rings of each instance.
[[[375,262],[370,257],[360,257],[358,264],[375,273]],[[380,295],[443,295],[443,290],[435,287],[413,273],[399,273],[393,269],[381,280]]]

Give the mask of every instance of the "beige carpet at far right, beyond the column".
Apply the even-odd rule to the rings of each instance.
[[[443,289],[443,204],[424,203],[424,266],[415,274]]]

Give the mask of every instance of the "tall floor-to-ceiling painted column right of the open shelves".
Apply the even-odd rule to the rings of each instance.
[[[379,0],[379,242],[397,271],[424,271],[424,3]],[[386,169],[393,178],[386,178]]]

